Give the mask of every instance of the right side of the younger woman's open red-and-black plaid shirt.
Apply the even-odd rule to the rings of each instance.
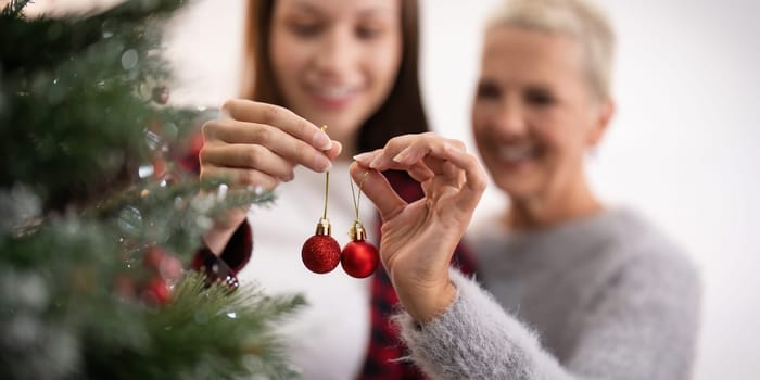
[[[387,172],[384,175],[405,201],[414,202],[422,198],[421,187],[406,173]],[[379,225],[376,233],[380,236]],[[452,264],[467,275],[474,273],[473,257],[461,243],[457,245]],[[425,379],[411,363],[403,359],[407,355],[406,349],[401,343],[397,328],[391,321],[391,316],[396,312],[398,296],[382,268],[373,275],[371,291],[371,337],[359,379]]]

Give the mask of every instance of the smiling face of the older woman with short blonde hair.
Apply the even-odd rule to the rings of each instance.
[[[485,36],[472,130],[494,182],[512,201],[585,187],[585,152],[612,107],[592,91],[583,53],[569,37],[512,26]]]

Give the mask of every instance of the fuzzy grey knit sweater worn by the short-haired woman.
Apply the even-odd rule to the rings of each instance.
[[[410,358],[432,379],[691,377],[700,282],[692,263],[630,211],[472,241],[479,280],[422,327],[402,313]]]

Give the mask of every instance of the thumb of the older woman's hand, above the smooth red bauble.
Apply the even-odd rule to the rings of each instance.
[[[407,203],[396,194],[380,172],[369,169],[357,162],[351,164],[349,170],[354,182],[360,185],[362,192],[375,203],[383,220],[392,218],[406,206]]]

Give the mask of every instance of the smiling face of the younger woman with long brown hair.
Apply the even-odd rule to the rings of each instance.
[[[351,149],[398,73],[400,0],[278,0],[269,50],[286,105]]]

